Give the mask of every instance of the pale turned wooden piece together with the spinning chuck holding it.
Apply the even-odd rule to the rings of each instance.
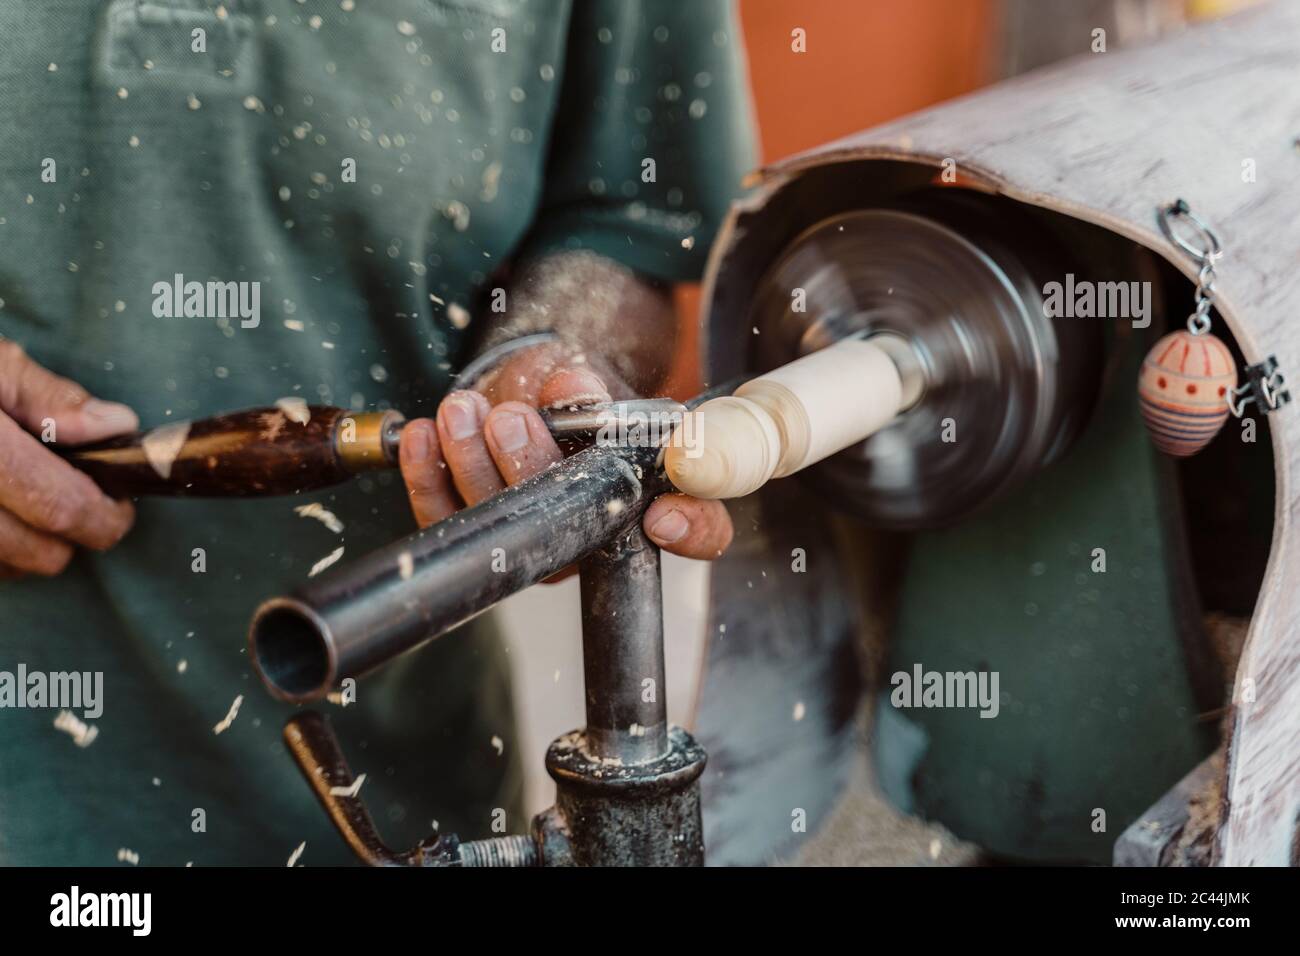
[[[714,369],[762,375],[685,423],[664,455],[681,490],[740,497],[802,470],[872,525],[942,527],[1063,454],[1087,420],[1100,326],[1045,312],[1039,290],[1074,259],[1014,209],[920,191],[816,222],[775,255],[737,297],[744,337],[719,351],[734,364]]]

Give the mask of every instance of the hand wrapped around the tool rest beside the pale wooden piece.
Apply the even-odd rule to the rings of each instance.
[[[402,476],[425,528],[477,505],[563,457],[537,408],[632,398],[599,359],[558,343],[512,355],[474,392],[452,392],[437,421],[415,419],[402,433]],[[719,501],[663,494],[646,510],[650,538],[684,558],[716,558],[732,523]]]

